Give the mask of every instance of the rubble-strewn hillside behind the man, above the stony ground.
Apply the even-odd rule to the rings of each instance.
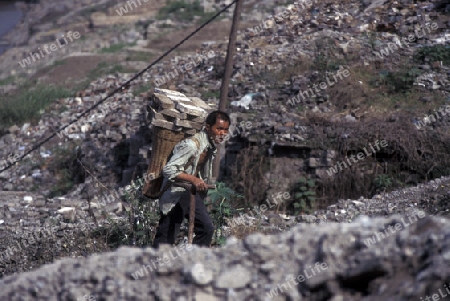
[[[35,8],[40,12],[36,16],[53,14],[51,6],[45,3]],[[73,18],[81,18],[86,24],[95,20],[99,10],[112,17],[120,7],[119,2],[102,4],[105,7],[85,6],[81,2],[77,5]],[[163,7],[163,3],[158,5]],[[156,14],[160,6],[149,7],[143,13]],[[235,162],[236,152],[248,144],[273,158],[262,168],[269,168],[269,172],[253,175],[255,180],[245,183],[248,191],[240,192],[252,202],[260,202],[266,194],[291,190],[299,177],[310,177],[317,180],[317,189],[323,191],[321,198],[331,202],[344,197],[369,197],[391,184],[415,185],[450,173],[450,157],[446,152],[450,147],[448,114],[438,114],[433,117],[435,120],[421,117],[445,111],[448,104],[449,17],[444,2],[425,5],[408,1],[320,1],[314,8],[307,4],[275,7],[272,16],[268,15],[269,7],[268,1],[254,7],[246,5],[243,13],[229,100],[230,111],[236,113],[233,120],[249,121],[252,127],[237,135],[244,139],[229,147],[225,165]],[[264,10],[269,11],[263,14]],[[139,16],[134,10],[132,15]],[[57,12],[54,16],[64,30],[74,30],[75,19]],[[81,80],[88,87],[71,94],[78,97],[59,98],[45,109],[27,108],[29,105],[24,104],[39,121],[7,127],[6,135],[0,138],[1,157],[6,160],[31,149],[74,115],[119,87],[132,76],[130,72],[144,68],[149,58],[156,57],[157,50],[167,50],[174,40],[180,40],[194,27],[187,19],[173,19],[176,24],[167,24],[167,20],[152,18],[142,15],[138,22],[117,21],[116,30],[99,24],[85,26],[80,29],[85,39],[46,56],[53,60],[66,56],[65,52],[73,52],[69,57],[54,61],[53,67],[48,65],[52,60],[46,58],[45,62],[27,68],[30,74],[40,70],[34,77],[44,85],[61,83],[70,77],[71,82]],[[227,22],[225,18],[211,25],[210,31],[201,36],[211,36]],[[186,29],[176,31],[176,26]],[[61,33],[48,31],[47,27],[36,30],[52,39]],[[405,37],[411,37],[412,42],[404,42]],[[92,177],[80,174],[82,170],[95,175],[105,187],[130,183],[135,172],[145,170],[146,149],[151,147],[146,133],[146,94],[141,92],[155,86],[171,87],[201,97],[216,107],[215,91],[221,82],[225,42],[196,40],[195,53],[181,53],[155,65],[90,113],[87,120],[66,130],[67,137],[50,140],[39,152],[30,154],[27,161],[0,174],[0,187],[5,190],[40,187],[46,197],[63,195],[77,184],[92,183]],[[43,46],[36,41],[30,43],[24,46],[27,51]],[[2,56],[4,70],[17,71],[7,65],[14,61],[11,55],[18,58],[17,51],[12,49]],[[100,53],[93,53],[97,51]],[[50,69],[39,69],[41,63]],[[187,64],[194,65],[191,72],[182,71]],[[338,75],[344,71],[349,76]],[[104,73],[107,75],[102,76]],[[327,81],[333,84],[328,86]],[[327,87],[319,88],[323,84]],[[247,104],[239,102],[244,98],[249,101]],[[12,103],[11,107],[2,110],[2,118],[23,115],[18,114]],[[40,111],[37,116],[36,111]],[[417,130],[420,122],[423,126]],[[376,139],[386,140],[389,147],[360,162],[358,173],[348,169],[329,176],[327,171],[335,164],[344,161],[347,155],[357,155]],[[102,164],[94,167],[94,162]],[[232,175],[231,166],[227,175]],[[278,183],[280,175],[287,180]],[[377,177],[385,181],[375,185]],[[99,194],[95,186],[88,186],[89,195]],[[351,188],[354,186],[360,188]],[[331,200],[330,196],[335,197]]]

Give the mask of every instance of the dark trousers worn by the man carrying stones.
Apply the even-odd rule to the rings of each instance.
[[[209,247],[214,234],[214,225],[203,200],[204,197],[197,193],[195,197],[195,237],[192,243]],[[160,213],[158,230],[153,241],[154,248],[157,248],[159,244],[175,244],[183,219],[189,220],[189,207],[190,193],[186,192],[167,215]]]

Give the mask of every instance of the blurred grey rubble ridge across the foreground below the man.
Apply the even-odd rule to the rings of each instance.
[[[395,228],[394,228],[395,227]],[[0,280],[4,300],[419,300],[450,283],[450,224],[361,217],[228,239],[65,259]]]

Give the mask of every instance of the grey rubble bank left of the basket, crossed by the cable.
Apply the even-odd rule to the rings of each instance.
[[[39,151],[29,154],[25,161],[49,161],[59,149],[73,149],[78,145],[83,156],[91,158],[84,161],[85,164],[92,168],[95,166],[100,172],[96,173],[99,180],[104,183],[115,182],[114,173],[111,173],[115,168],[114,148],[123,143],[123,140],[133,139],[139,129],[148,123],[143,106],[144,98],[122,90],[85,116],[79,116],[105,97],[106,91],[119,87],[129,76],[131,75],[107,76],[94,81],[90,89],[80,92],[77,97],[60,99],[42,115],[36,126],[28,123],[22,128],[12,126],[9,133],[0,139],[1,157],[23,155],[44,137],[58,132],[51,142],[42,146]],[[77,121],[60,130],[73,120]],[[120,174],[121,170],[118,173]],[[4,180],[1,183],[3,190],[19,191],[25,190],[25,187],[33,183],[43,184],[45,187],[55,180],[48,170],[33,169],[30,164],[23,163],[2,172],[0,178]],[[44,189],[43,194],[46,193],[48,191]]]

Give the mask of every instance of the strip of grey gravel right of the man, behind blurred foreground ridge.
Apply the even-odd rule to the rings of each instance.
[[[269,199],[270,202],[272,200]],[[269,207],[270,208],[270,207]],[[374,195],[370,199],[340,199],[325,210],[311,214],[289,217],[275,213],[274,209],[265,212],[247,212],[228,221],[229,227],[224,234],[242,226],[259,225],[265,233],[279,233],[295,226],[297,223],[349,223],[361,216],[387,217],[393,214],[411,215],[423,211],[427,215],[450,218],[450,177],[441,177],[416,187],[404,188],[389,193]],[[255,214],[256,213],[256,214]],[[234,229],[232,229],[234,228]]]

